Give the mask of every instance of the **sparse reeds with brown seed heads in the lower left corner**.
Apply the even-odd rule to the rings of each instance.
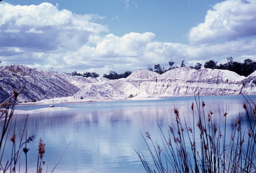
[[[24,86],[25,87],[25,86]],[[23,87],[23,88],[24,88]],[[0,172],[6,173],[14,173],[14,172],[20,172],[20,155],[25,154],[26,158],[26,167],[24,172],[28,172],[28,161],[27,161],[27,153],[29,149],[27,148],[27,144],[34,141],[36,138],[36,135],[31,135],[27,137],[27,133],[25,132],[26,129],[26,123],[28,120],[28,114],[26,117],[26,121],[22,130],[22,135],[20,137],[20,141],[16,140],[16,135],[15,135],[15,128],[16,128],[16,122],[14,125],[14,130],[13,134],[10,138],[10,127],[13,121],[13,112],[14,112],[14,106],[17,101],[17,97],[19,96],[20,92],[23,90],[23,88],[20,91],[13,90],[12,96],[10,96],[8,99],[6,99],[3,103],[0,104],[0,119],[3,120],[0,123],[0,132],[1,132],[1,139],[0,139]],[[4,108],[2,108],[4,107]],[[24,139],[24,134],[26,133],[26,138]],[[11,140],[12,145],[7,144],[7,140]],[[37,168],[36,168],[36,173],[42,173],[42,166],[44,165],[45,161],[43,161],[44,153],[45,153],[45,144],[43,142],[43,139],[40,138],[38,142],[38,160],[37,160]],[[68,147],[68,146],[67,146]],[[6,163],[3,163],[3,155],[6,153],[4,152],[5,148],[12,148],[12,153],[11,153],[11,159],[7,161]],[[67,149],[67,148],[66,148]],[[54,168],[52,169],[51,172],[55,169],[57,166],[58,162],[60,161],[61,157],[63,156],[64,152],[66,149],[63,151],[62,155],[60,156],[59,160],[55,164]],[[23,152],[22,152],[23,151]],[[33,171],[33,170],[32,170]],[[47,169],[46,169],[47,172]]]

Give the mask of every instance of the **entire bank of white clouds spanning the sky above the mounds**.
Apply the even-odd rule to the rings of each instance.
[[[0,60],[59,72],[95,71],[99,74],[165,65],[256,59],[256,1],[230,0],[215,4],[204,23],[188,32],[189,44],[164,43],[155,34],[110,34],[97,14],[77,15],[49,3],[20,6],[0,3]],[[250,36],[250,38],[248,38]],[[226,41],[219,41],[226,39]],[[224,39],[224,40],[225,40]]]

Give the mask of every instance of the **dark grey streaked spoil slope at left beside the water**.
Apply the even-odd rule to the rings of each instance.
[[[0,68],[0,101],[24,85],[26,87],[18,98],[19,102],[71,96],[80,89],[70,80],[73,78],[65,74],[34,70],[23,65],[6,65]]]

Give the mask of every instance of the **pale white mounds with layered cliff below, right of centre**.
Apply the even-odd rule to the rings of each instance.
[[[228,70],[191,69],[181,67],[167,71],[155,81],[143,81],[139,84],[140,90],[151,94],[168,96],[193,96],[200,95],[229,95],[239,94],[242,81],[240,75]],[[132,81],[131,81],[132,82]]]

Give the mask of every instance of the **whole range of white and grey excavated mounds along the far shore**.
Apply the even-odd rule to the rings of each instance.
[[[125,99],[147,97],[256,94],[256,72],[248,77],[228,70],[195,70],[175,68],[159,75],[149,70],[137,70],[127,78],[109,80],[104,77],[85,78],[31,69],[23,65],[0,68],[0,101],[20,90],[19,101],[74,96],[87,99]]]

